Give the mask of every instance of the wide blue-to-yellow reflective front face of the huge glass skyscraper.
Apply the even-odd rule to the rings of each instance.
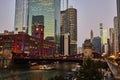
[[[28,34],[32,34],[32,17],[44,16],[44,38],[60,34],[60,1],[59,0],[29,0],[28,3]]]

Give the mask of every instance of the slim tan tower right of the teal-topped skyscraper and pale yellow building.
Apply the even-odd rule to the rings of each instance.
[[[109,29],[109,35],[110,35],[110,54],[113,54],[114,52],[114,28]]]

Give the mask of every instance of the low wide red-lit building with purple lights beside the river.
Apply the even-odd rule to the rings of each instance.
[[[35,31],[34,36],[30,36],[27,33],[19,32],[18,34],[1,34],[0,35],[0,54],[3,54],[5,50],[16,53],[14,57],[26,57],[26,56],[50,56],[55,54],[55,43],[45,41],[44,30]],[[36,37],[39,35],[40,37]]]

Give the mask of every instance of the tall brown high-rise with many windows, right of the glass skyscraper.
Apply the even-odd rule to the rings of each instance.
[[[77,10],[73,7],[61,12],[60,33],[70,34],[70,55],[77,53]]]

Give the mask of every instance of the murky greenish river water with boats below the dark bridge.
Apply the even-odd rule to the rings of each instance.
[[[0,80],[48,80],[56,75],[64,75],[76,63],[56,64],[55,70],[1,69]]]

